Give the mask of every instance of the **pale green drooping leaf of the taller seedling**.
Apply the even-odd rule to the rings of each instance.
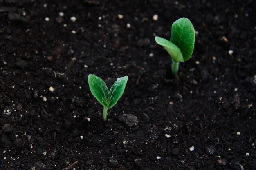
[[[175,44],[161,37],[155,37],[155,41],[166,49],[175,62],[184,62],[182,53]]]

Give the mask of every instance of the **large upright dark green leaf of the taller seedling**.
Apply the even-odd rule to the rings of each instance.
[[[195,29],[187,18],[180,18],[172,25],[170,41],[181,51],[184,61],[189,60],[195,45]]]

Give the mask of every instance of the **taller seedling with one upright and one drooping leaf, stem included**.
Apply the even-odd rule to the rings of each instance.
[[[195,44],[195,29],[187,18],[180,18],[172,25],[170,41],[155,37],[157,44],[162,45],[172,58],[172,73],[177,75],[179,63],[191,58]]]

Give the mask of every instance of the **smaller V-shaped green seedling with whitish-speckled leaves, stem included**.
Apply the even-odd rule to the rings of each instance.
[[[88,76],[88,83],[92,95],[103,105],[103,121],[107,120],[108,109],[112,108],[124,93],[124,89],[128,80],[128,76],[117,78],[112,85],[110,91],[106,83],[95,75]]]

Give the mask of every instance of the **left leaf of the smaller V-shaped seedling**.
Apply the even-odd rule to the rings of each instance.
[[[102,104],[108,108],[109,92],[106,83],[95,75],[88,76],[88,83],[92,95]]]

